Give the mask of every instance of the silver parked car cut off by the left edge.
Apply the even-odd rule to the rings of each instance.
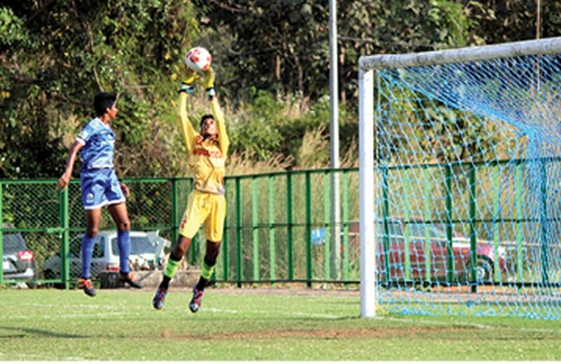
[[[2,270],[6,281],[33,281],[36,279],[34,253],[18,232],[4,234]]]

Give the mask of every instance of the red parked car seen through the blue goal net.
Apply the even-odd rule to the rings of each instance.
[[[405,225],[402,218],[390,218],[387,239],[384,239],[384,225],[381,222],[377,223],[376,255],[380,279],[399,281],[406,278]],[[426,279],[426,267],[428,266],[426,259],[430,257],[431,279],[445,281],[448,271],[452,268],[454,280],[470,281],[471,242],[468,237],[459,232],[452,232],[453,267],[449,267],[445,226],[427,225],[421,219],[412,219],[407,225],[409,226],[409,261],[412,280],[424,281]],[[357,258],[360,246],[359,226],[358,222],[349,223],[349,249],[351,255]],[[428,227],[428,231],[426,227]],[[313,230],[311,236],[313,246],[325,244],[325,229]],[[426,237],[428,237],[429,252],[426,252]],[[496,259],[499,260],[501,273],[506,272],[506,249],[499,246],[497,253],[498,256],[495,255],[493,244],[490,241],[478,240],[476,242],[475,276],[478,282],[492,281]],[[388,267],[386,267],[386,259],[389,260]],[[389,276],[386,277],[387,274]]]

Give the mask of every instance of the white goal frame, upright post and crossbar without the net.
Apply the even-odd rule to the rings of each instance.
[[[360,316],[376,316],[376,206],[377,162],[374,160],[374,78],[377,69],[470,62],[502,57],[546,55],[561,52],[561,37],[497,45],[458,48],[406,55],[360,57],[358,64],[359,186],[360,186]],[[376,108],[374,107],[376,106]],[[379,118],[379,116],[377,116]]]

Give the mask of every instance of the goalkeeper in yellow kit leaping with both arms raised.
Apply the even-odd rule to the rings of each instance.
[[[193,287],[193,297],[189,309],[195,313],[201,308],[201,300],[206,283],[214,272],[216,259],[222,241],[222,229],[226,216],[226,199],[224,197],[224,161],[230,144],[226,133],[224,116],[220,110],[214,90],[214,73],[211,68],[204,71],[204,86],[212,106],[212,115],[201,118],[201,134],[197,134],[187,118],[187,97],[194,92],[193,83],[199,77],[187,68],[187,79],[179,90],[180,130],[187,151],[189,151],[189,169],[194,177],[194,190],[187,197],[187,207],[180,223],[179,237],[170,253],[165,266],[163,280],[158,286],[152,304],[155,309],[163,309],[165,295],[168,293],[170,280],[173,278],[183,255],[187,253],[191,239],[204,222],[206,251],[201,277]]]

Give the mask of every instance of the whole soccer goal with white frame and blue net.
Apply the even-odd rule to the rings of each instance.
[[[560,53],[360,57],[361,316],[559,318]]]

